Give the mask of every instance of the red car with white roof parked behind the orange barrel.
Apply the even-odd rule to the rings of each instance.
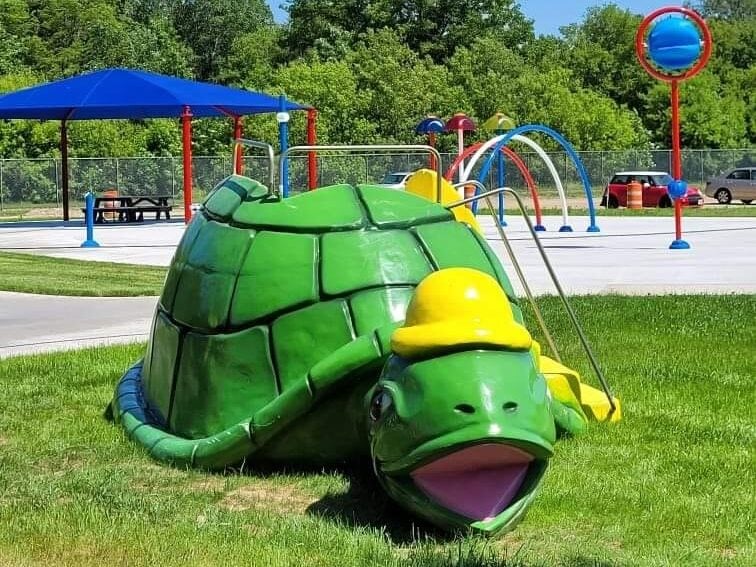
[[[671,207],[672,199],[667,194],[667,183],[672,176],[664,171],[620,171],[614,174],[601,197],[601,206],[610,209],[627,207],[627,184],[637,181],[643,186],[644,207]],[[703,205],[703,194],[697,187],[688,186],[688,193],[682,198],[683,206],[700,207]]]

